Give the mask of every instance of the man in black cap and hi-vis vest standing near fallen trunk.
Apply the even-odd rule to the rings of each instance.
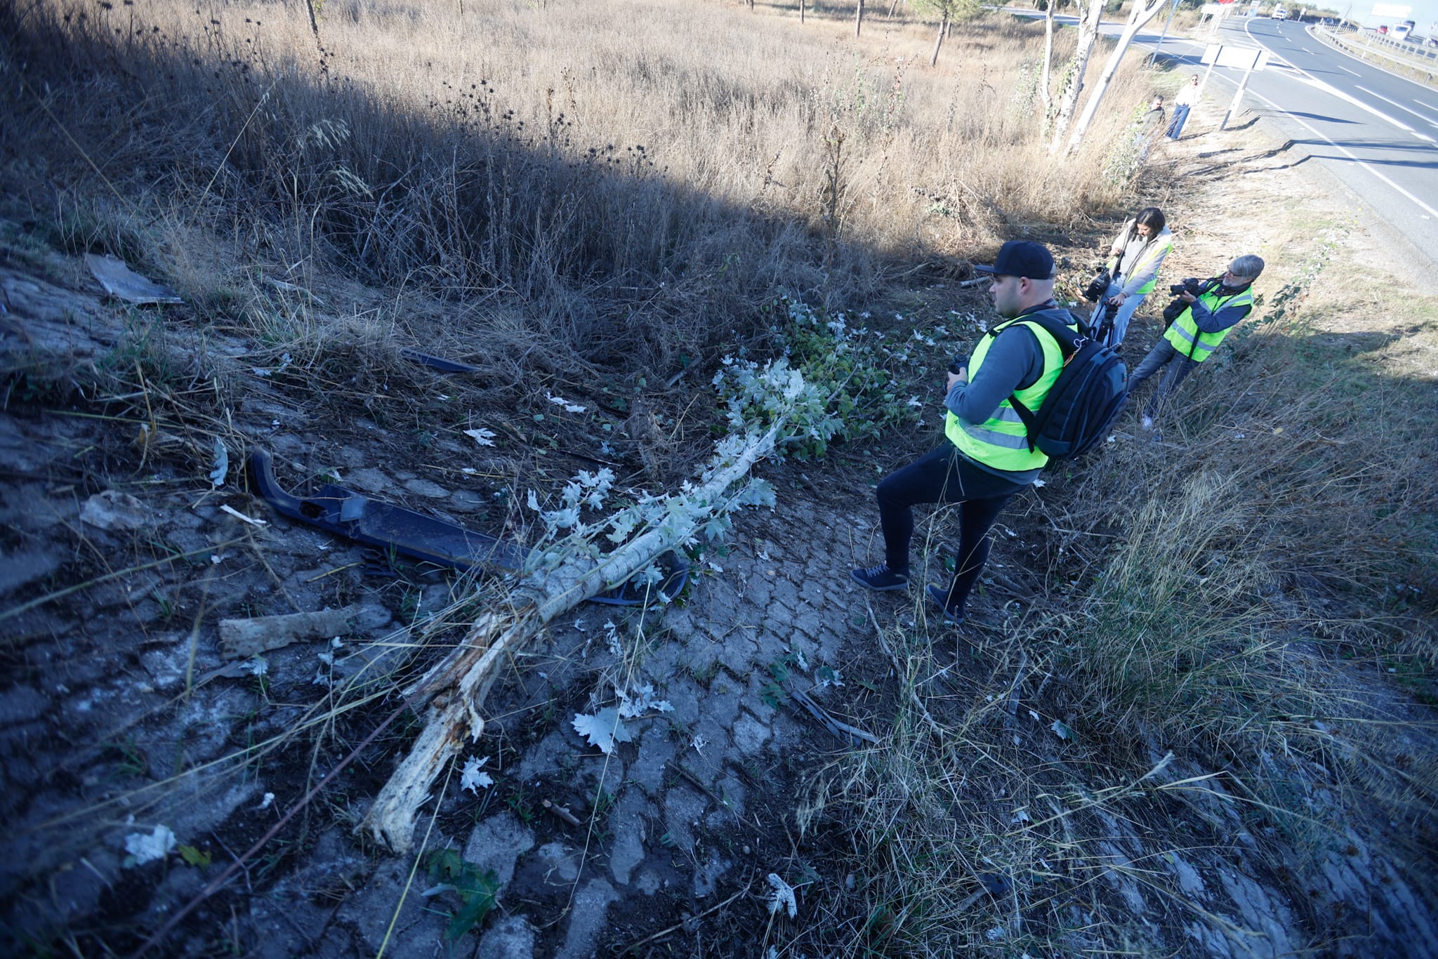
[[[988,531],[1009,496],[1038,477],[1048,462],[1031,449],[1022,420],[1009,403],[1017,395],[1037,410],[1063,371],[1053,336],[1025,316],[1045,312],[1077,332],[1078,321],[1054,303],[1054,257],[1038,243],[1009,240],[992,266],[989,295],[1004,318],[984,335],[966,364],[955,358],[945,398],[948,441],[890,473],[876,490],[884,533],[884,562],[850,575],[870,589],[909,585],[909,541],[916,503],[959,503],[959,556],[949,587],[929,585],[945,623],[963,621],[963,604],[988,559]],[[971,380],[972,372],[972,380]]]

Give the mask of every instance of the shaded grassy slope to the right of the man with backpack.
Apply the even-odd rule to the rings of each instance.
[[[1345,230],[1324,226],[1160,440],[1133,427],[1051,470],[1030,510],[1048,532],[1024,533],[1047,559],[1032,615],[961,634],[958,660],[922,617],[890,637],[894,738],[815,776],[801,817],[854,850],[837,870],[856,884],[824,899],[850,936],[797,942],[1251,947],[1192,880],[1237,861],[1294,910],[1287,945],[1310,947],[1345,935],[1357,894],[1327,887],[1334,863],[1426,883],[1438,324],[1396,292],[1359,316],[1342,290],[1368,267],[1333,256]],[[1382,876],[1370,909],[1402,913],[1402,880]]]

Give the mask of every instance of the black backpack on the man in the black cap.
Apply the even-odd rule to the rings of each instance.
[[[1054,338],[1064,358],[1063,372],[1037,411],[1025,407],[1015,395],[1009,395],[1008,401],[1024,421],[1030,451],[1037,447],[1050,459],[1071,460],[1103,443],[1109,427],[1129,405],[1129,394],[1125,391],[1129,371],[1119,354],[1074,332],[1055,312],[1028,313],[1020,316],[1018,322],[1038,324]],[[999,332],[994,329],[989,335],[997,336]]]

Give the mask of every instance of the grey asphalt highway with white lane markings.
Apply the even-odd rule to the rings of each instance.
[[[1438,266],[1438,92],[1332,49],[1300,23],[1231,17],[1218,42],[1274,56],[1270,69],[1250,78],[1241,111],[1293,141],[1276,160],[1324,167],[1415,247],[1395,253],[1418,257],[1412,266],[1431,275]],[[1205,69],[1202,49],[1191,40],[1163,43],[1181,69]],[[1221,115],[1241,79],[1240,70],[1215,68],[1205,89],[1209,111]]]

